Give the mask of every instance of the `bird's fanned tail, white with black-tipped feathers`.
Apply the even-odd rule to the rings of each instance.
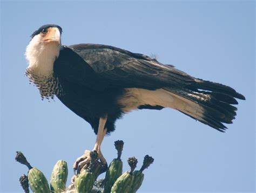
[[[171,108],[211,126],[220,132],[227,129],[223,123],[230,124],[235,119],[237,100],[245,97],[233,88],[215,82],[197,81],[184,88],[163,88],[174,98]]]

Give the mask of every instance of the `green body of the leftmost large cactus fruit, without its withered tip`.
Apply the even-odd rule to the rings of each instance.
[[[37,168],[32,168],[28,173],[29,185],[33,192],[35,193],[50,193],[50,188],[46,177]]]

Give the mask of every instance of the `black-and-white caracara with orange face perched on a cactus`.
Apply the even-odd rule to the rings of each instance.
[[[54,96],[90,123],[100,161],[104,136],[115,122],[136,109],[172,108],[220,132],[235,119],[245,96],[230,86],[194,78],[156,58],[102,44],[61,44],[62,27],[47,24],[26,46],[25,75],[42,99]],[[79,157],[73,168],[85,164]]]

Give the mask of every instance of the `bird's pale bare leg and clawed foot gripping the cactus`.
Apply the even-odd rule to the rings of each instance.
[[[100,162],[102,162],[103,166],[107,166],[107,163],[100,151],[100,145],[102,144],[102,141],[104,139],[104,136],[105,136],[106,130],[107,130],[107,129],[104,129],[106,120],[107,120],[107,116],[99,118],[98,133],[97,133],[97,138],[96,138],[96,142],[95,142],[95,147],[93,148],[93,150],[97,151],[98,157],[100,159]],[[79,171],[83,167],[86,167],[86,165],[89,165],[89,162],[90,162],[90,151],[85,150],[84,155],[82,155],[81,157],[78,157],[76,162],[73,164],[73,170],[75,171],[75,173],[76,173],[76,171],[77,171],[77,173],[79,173]]]

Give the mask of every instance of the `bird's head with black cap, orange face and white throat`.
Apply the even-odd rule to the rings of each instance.
[[[61,34],[62,28],[55,24],[43,25],[32,33],[25,53],[30,71],[39,76],[53,72],[53,63],[59,56]]]

